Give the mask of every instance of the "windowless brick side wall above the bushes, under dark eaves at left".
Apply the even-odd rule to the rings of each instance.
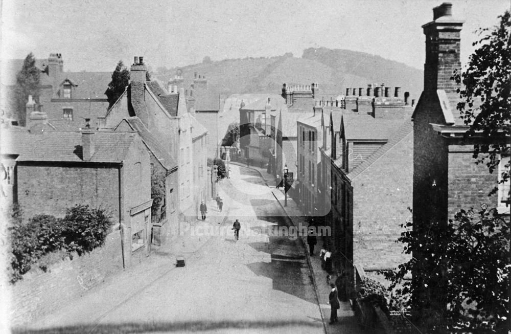
[[[119,221],[119,172],[115,166],[52,166],[20,163],[17,166],[18,203],[26,218],[37,214],[64,216],[77,204],[102,208]]]

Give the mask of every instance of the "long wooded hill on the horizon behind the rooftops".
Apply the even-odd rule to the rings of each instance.
[[[400,86],[419,99],[423,88],[423,71],[380,56],[350,50],[309,48],[301,58],[291,53],[270,58],[243,58],[211,61],[181,68],[158,68],[154,76],[167,83],[176,71],[182,71],[185,86],[193,82],[194,73],[205,76],[208,87],[221,96],[235,93],[280,94],[282,84],[318,83],[326,95],[344,94],[345,88],[366,87],[368,83]]]

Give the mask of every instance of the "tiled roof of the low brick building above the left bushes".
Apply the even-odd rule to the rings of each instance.
[[[9,131],[3,137],[2,153],[18,154],[17,161],[83,162],[81,132]],[[95,132],[95,150],[90,162],[121,163],[136,133]]]

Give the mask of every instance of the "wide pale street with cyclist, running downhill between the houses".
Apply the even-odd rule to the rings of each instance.
[[[187,257],[184,268],[173,268],[174,254],[162,248],[150,257],[154,275],[124,272],[30,328],[324,332],[305,249],[300,239],[277,235],[287,217],[270,188],[252,169],[231,166],[230,176],[219,183],[228,212],[210,206],[207,224],[192,225],[191,238],[207,241]],[[230,229],[236,218],[242,227],[238,242]],[[120,285],[136,288],[126,291]]]

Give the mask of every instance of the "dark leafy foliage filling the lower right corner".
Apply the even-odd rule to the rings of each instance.
[[[402,300],[405,308],[420,310],[415,321],[421,330],[486,333],[505,329],[509,319],[509,221],[483,208],[479,213],[460,210],[447,226],[436,222],[427,230],[412,230],[408,222],[401,227],[406,231],[398,242],[406,244],[405,253],[419,251],[425,261],[418,266],[412,257],[385,277],[392,282],[389,290],[397,287],[395,292],[403,298],[414,289],[405,276],[412,269],[420,276],[423,298],[415,300],[413,308],[410,298]],[[445,279],[439,280],[442,276]],[[432,304],[440,292],[447,308]],[[395,307],[395,301],[390,306]]]

